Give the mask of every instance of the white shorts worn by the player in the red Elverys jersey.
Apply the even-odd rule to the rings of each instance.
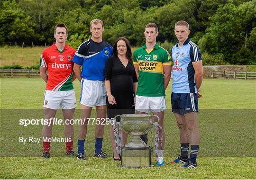
[[[44,108],[58,109],[73,109],[76,107],[74,90],[46,90],[44,98]]]

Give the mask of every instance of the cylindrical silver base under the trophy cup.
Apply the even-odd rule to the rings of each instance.
[[[151,167],[152,147],[125,147],[121,148],[121,167],[141,168]]]

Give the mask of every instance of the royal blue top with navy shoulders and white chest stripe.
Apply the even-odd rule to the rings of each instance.
[[[113,55],[113,49],[109,43],[105,41],[96,43],[88,39],[79,45],[72,61],[82,65],[82,78],[103,81],[105,65],[111,55]]]

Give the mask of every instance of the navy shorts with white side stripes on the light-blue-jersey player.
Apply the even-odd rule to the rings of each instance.
[[[198,100],[196,93],[174,93],[171,97],[172,111],[183,115],[189,112],[198,112]]]

